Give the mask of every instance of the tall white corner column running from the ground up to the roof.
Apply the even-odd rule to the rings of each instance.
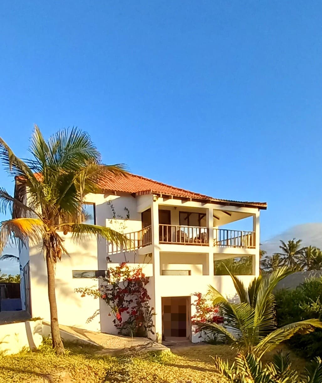
[[[159,204],[153,201],[151,206],[152,247],[153,247],[153,278],[154,278],[154,329],[156,341],[162,342],[162,303],[160,280],[160,250],[159,250]]]

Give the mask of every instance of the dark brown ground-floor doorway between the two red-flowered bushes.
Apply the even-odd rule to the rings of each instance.
[[[181,342],[190,339],[190,296],[162,298],[162,340]]]

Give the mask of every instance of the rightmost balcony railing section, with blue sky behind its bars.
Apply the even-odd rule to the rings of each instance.
[[[255,232],[227,229],[213,229],[213,246],[255,248]]]

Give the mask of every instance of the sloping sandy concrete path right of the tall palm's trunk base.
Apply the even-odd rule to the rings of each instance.
[[[49,325],[48,322],[43,324]],[[63,339],[77,340],[94,344],[101,348],[98,354],[134,354],[139,352],[164,352],[170,349],[153,340],[138,337],[105,334],[103,332],[79,329],[78,327],[59,326]]]

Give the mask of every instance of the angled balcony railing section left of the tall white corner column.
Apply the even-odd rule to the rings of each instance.
[[[117,254],[122,252],[129,252],[140,249],[141,247],[152,244],[152,231],[151,225],[144,229],[133,231],[132,233],[125,234],[128,238],[128,244],[126,246],[120,246],[119,244],[108,243],[107,253]]]

